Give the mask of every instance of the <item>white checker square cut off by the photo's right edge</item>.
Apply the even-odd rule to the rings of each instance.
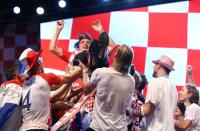
[[[188,48],[200,49],[200,13],[188,14]]]

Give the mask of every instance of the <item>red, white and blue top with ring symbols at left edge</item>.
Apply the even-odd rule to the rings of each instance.
[[[11,80],[0,87],[0,130],[16,131],[21,126],[22,82]]]

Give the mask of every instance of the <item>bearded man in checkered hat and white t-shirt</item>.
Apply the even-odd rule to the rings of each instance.
[[[147,131],[174,131],[173,114],[177,104],[177,90],[169,80],[174,62],[168,56],[152,61],[153,79],[147,87],[145,104],[134,109],[133,116],[145,116]],[[134,102],[132,103],[134,106]]]

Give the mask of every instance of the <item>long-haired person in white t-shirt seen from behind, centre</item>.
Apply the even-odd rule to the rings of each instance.
[[[109,68],[96,69],[85,87],[89,93],[96,88],[92,122],[87,131],[124,131],[127,129],[126,109],[131,103],[135,81],[129,74],[133,59],[130,47],[122,45]]]

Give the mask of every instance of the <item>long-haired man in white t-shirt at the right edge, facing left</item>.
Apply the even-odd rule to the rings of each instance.
[[[183,121],[175,120],[175,126],[187,131],[200,131],[199,91],[192,84],[187,84],[180,91],[180,100],[186,106]]]

